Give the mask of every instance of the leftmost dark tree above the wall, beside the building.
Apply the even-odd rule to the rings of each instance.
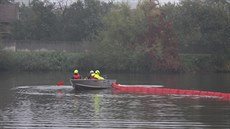
[[[20,19],[15,26],[15,39],[52,40],[56,34],[54,4],[34,0],[31,6],[20,7]]]

